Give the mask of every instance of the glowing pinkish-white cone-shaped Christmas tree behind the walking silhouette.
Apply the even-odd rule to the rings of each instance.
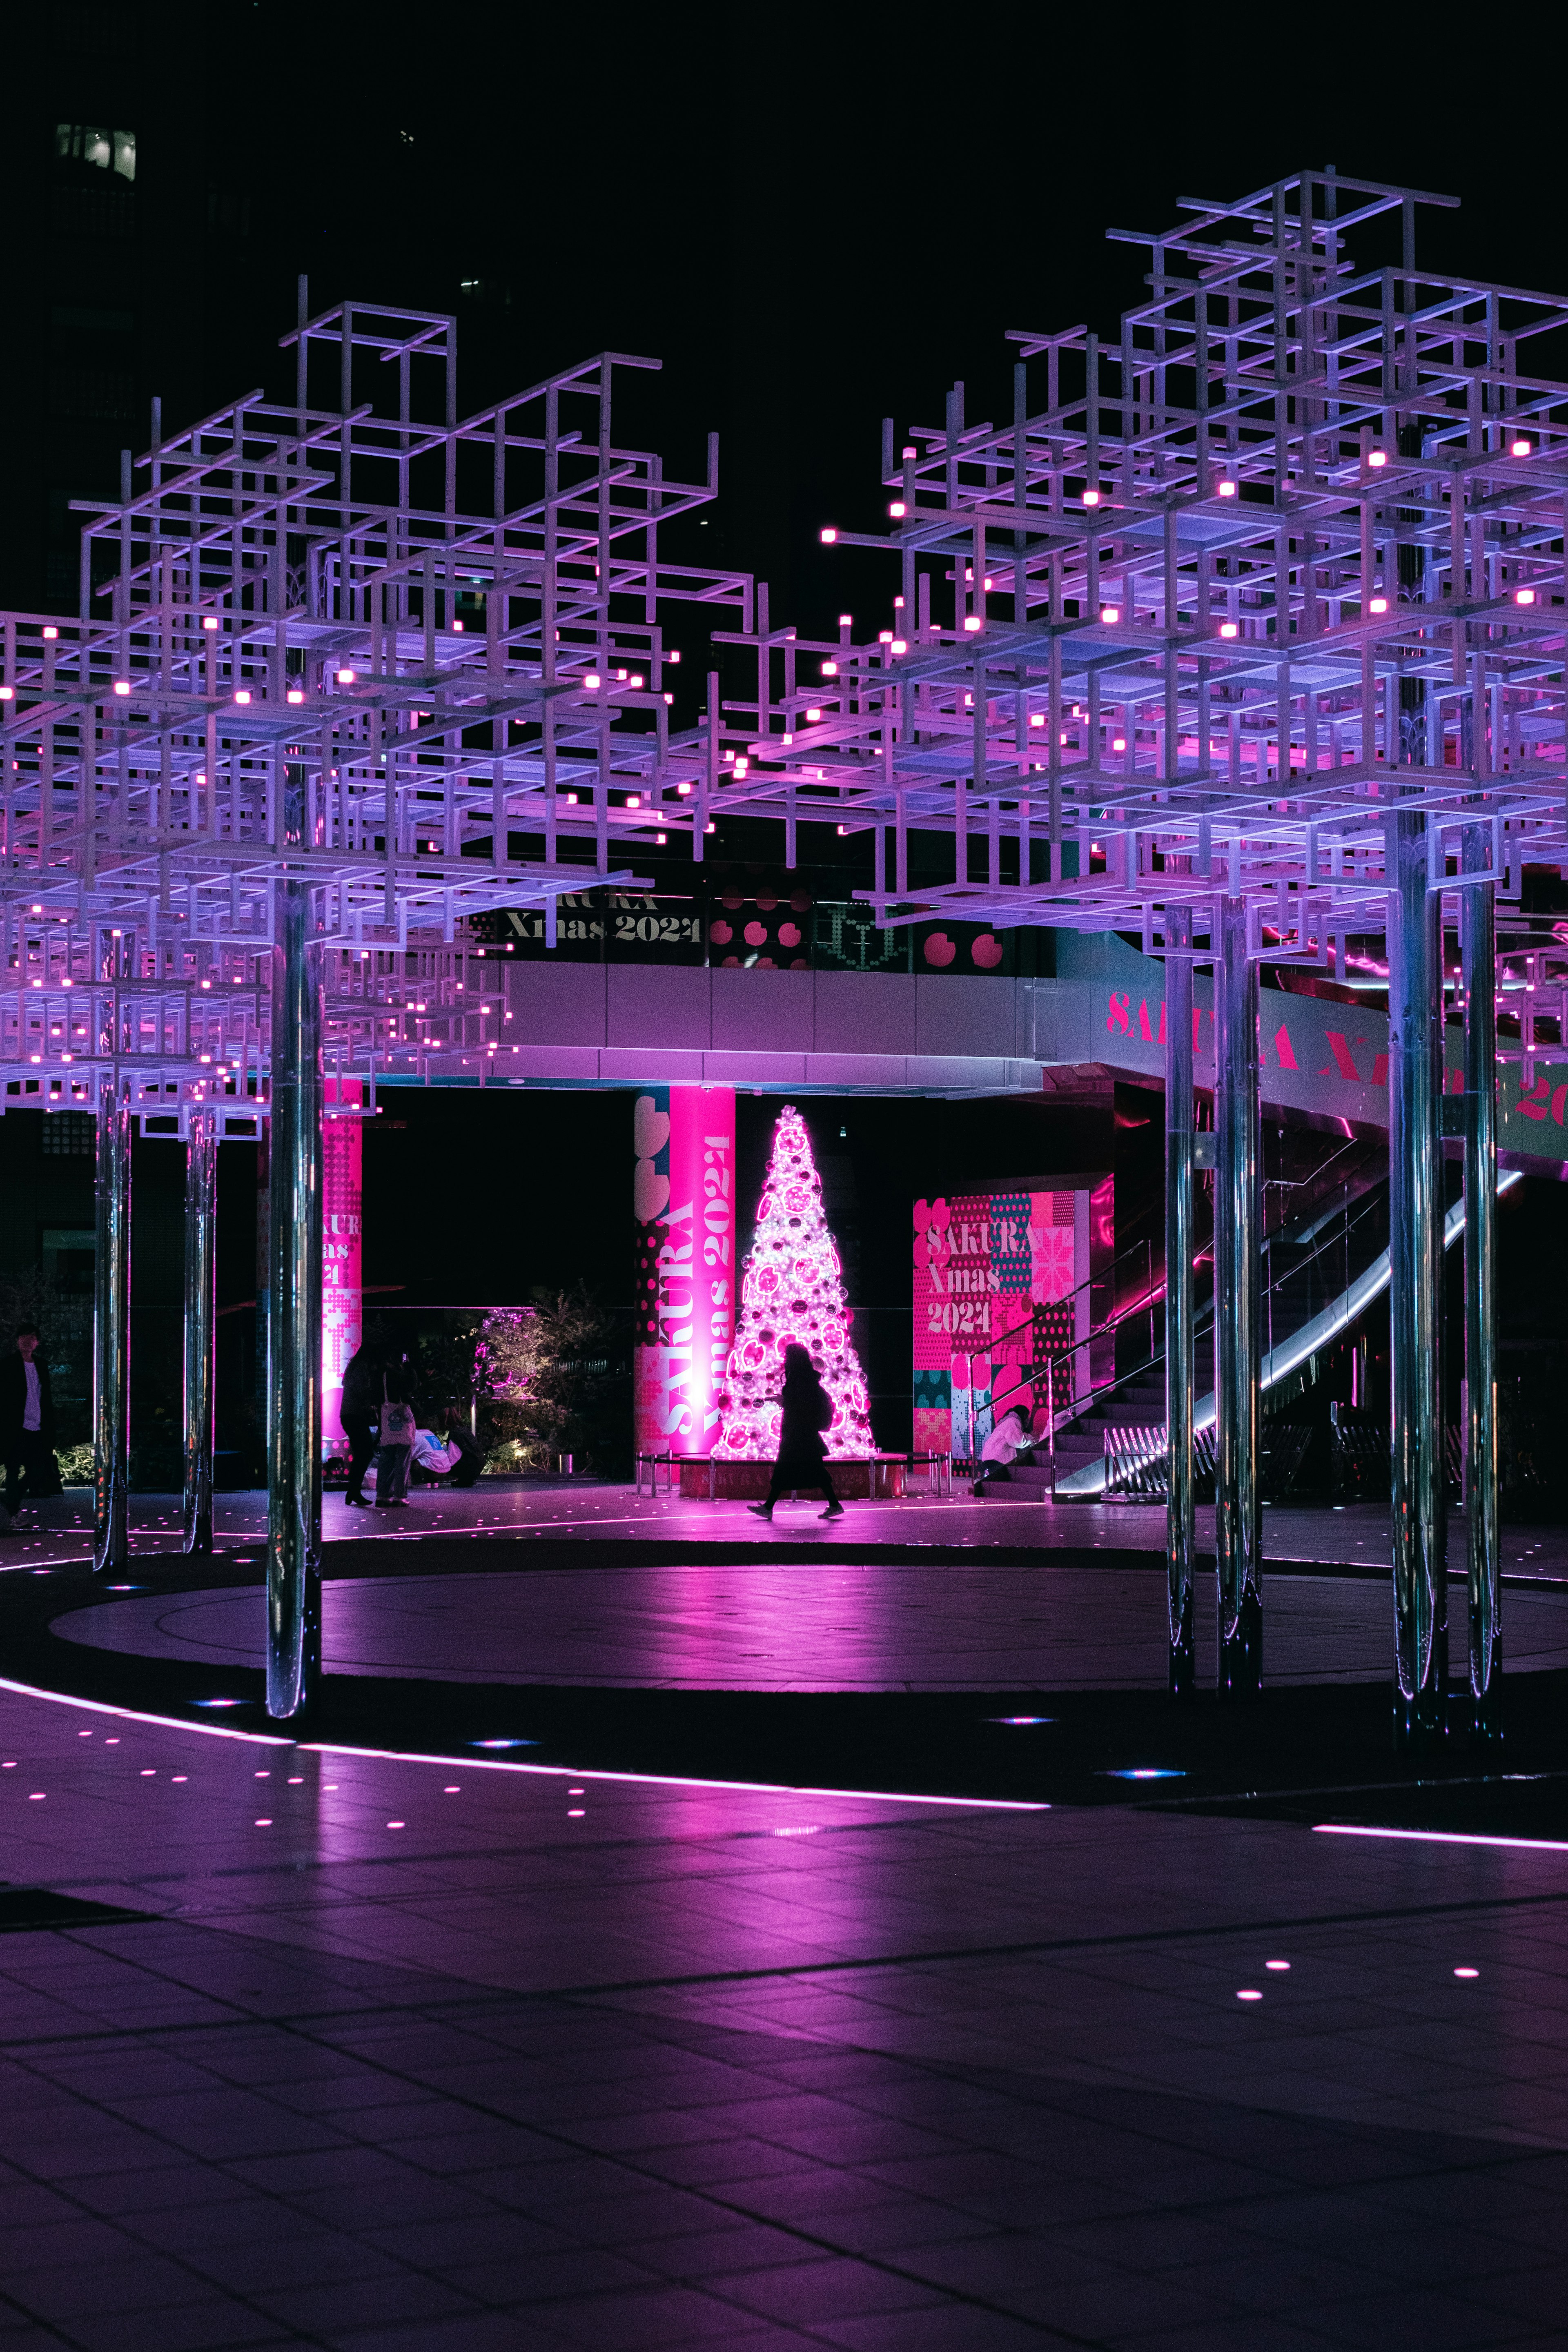
[[[877,1451],[867,1418],[865,1374],[849,1336],[844,1268],[823,1218],[823,1178],[811,1134],[795,1103],[773,1129],[773,1157],[757,1202],[757,1232],[745,1261],[736,1343],[724,1369],[719,1461],[776,1461],[783,1352],[806,1350],[832,1397],[823,1430],[835,1458]]]

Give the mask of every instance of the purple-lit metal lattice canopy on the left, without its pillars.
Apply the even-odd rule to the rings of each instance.
[[[284,343],[292,407],[249,393],[172,435],[155,407],[120,499],[78,501],[75,621],[2,621],[14,1105],[92,1103],[108,1073],[181,1120],[263,1098],[287,880],[329,1061],[482,1068],[501,1007],[473,1009],[468,915],[543,903],[550,934],[661,828],[701,851],[717,741],[670,729],[665,626],[750,630],[752,583],[661,553],[715,496],[717,440],[705,482],[614,440],[616,372],[658,362],[602,353],[458,419],[451,318],[308,318],[301,285]]]

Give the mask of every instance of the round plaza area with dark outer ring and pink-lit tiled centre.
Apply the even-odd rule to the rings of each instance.
[[[1175,1703],[1154,1552],[433,1534],[329,1545],[324,1571],[308,1719],[266,1715],[254,1543],[205,1564],[143,1555],[120,1592],[78,1562],[0,1578],[7,1675],[470,1766],[1568,1837],[1563,1583],[1509,1578],[1507,1745],[1472,1729],[1455,1656],[1448,1736],[1410,1755],[1392,1736],[1382,1573],[1274,1569],[1265,1691],[1227,1700],[1208,1566],[1199,1679]]]

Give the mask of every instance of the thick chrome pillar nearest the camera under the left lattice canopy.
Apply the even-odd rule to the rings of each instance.
[[[322,1663],[322,985],[310,889],[277,882],[268,1240],[268,1715]]]

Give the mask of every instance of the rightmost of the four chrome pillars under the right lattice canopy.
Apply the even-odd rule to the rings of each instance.
[[[1490,866],[1490,826],[1465,835],[1465,873]],[[1460,891],[1465,967],[1465,1538],[1474,1729],[1502,1729],[1497,1557],[1497,938],[1490,882]]]

